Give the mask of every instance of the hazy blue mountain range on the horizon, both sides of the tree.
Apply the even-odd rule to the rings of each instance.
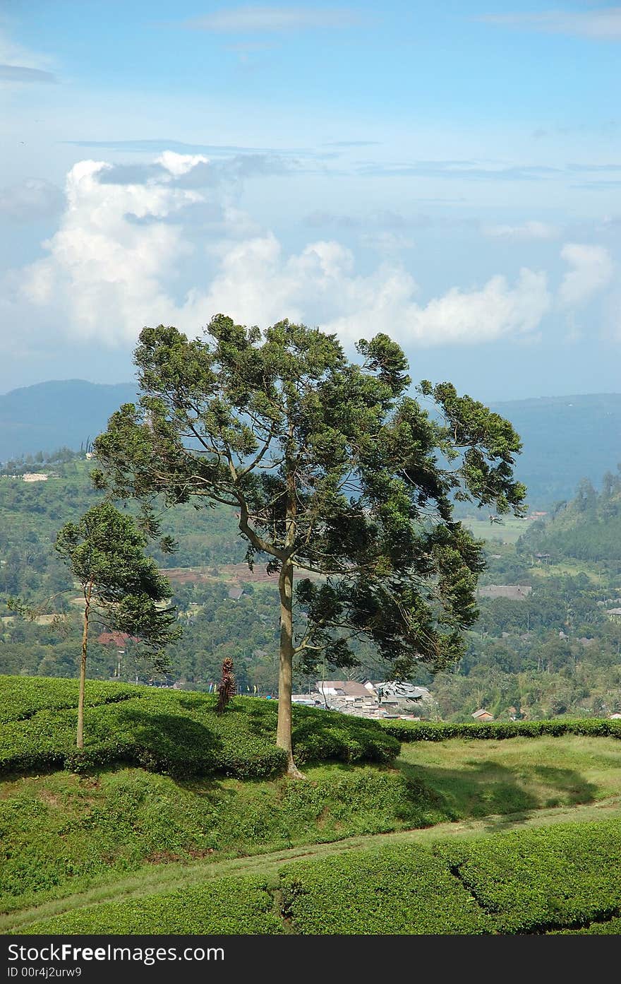
[[[105,429],[121,403],[136,399],[134,383],[113,386],[72,379],[38,383],[0,396],[0,461],[15,455],[78,450]],[[581,478],[600,487],[621,461],[621,394],[541,397],[489,404],[522,437],[517,474],[532,508],[571,499]]]

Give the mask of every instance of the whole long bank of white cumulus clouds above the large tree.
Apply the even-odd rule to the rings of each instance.
[[[333,240],[287,253],[273,233],[218,199],[221,189],[193,187],[195,172],[208,165],[201,154],[163,153],[145,180],[126,173],[108,184],[112,164],[76,164],[58,231],[43,244],[46,256],[16,271],[12,292],[5,290],[3,303],[14,312],[5,323],[15,323],[19,309],[20,323],[38,319],[48,337],[55,331],[127,345],[143,325],[174,324],[195,336],[224,312],[261,326],[304,321],[346,343],[383,331],[406,345],[439,345],[532,335],[550,308],[545,275],[528,269],[515,281],[490,277],[422,302],[398,255],[411,245],[400,230],[380,240],[382,230],[370,230],[384,260],[365,275]],[[188,187],[180,185],[185,179]],[[188,231],[196,215],[212,225],[193,255]],[[575,254],[568,256],[578,269]]]

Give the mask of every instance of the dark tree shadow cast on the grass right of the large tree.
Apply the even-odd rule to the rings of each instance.
[[[491,814],[529,815],[544,807],[591,803],[597,789],[574,769],[545,766],[523,767],[520,775],[491,761],[462,769],[401,763],[400,769],[411,782],[420,783],[436,798],[448,820],[479,819]],[[543,788],[539,791],[536,787],[540,786]]]

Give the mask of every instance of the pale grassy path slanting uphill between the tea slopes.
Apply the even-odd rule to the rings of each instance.
[[[329,843],[310,843],[287,850],[254,854],[225,861],[197,861],[191,864],[145,865],[131,876],[117,879],[85,892],[68,894],[10,915],[0,916],[0,933],[11,932],[74,908],[98,902],[119,901],[159,892],[174,892],[190,885],[223,876],[276,876],[285,864],[301,859],[314,859],[347,850],[373,848],[399,843],[429,843],[449,837],[485,837],[507,830],[543,827],[560,823],[587,823],[621,817],[621,796],[611,796],[596,803],[532,810],[514,814],[491,814],[478,820],[461,820],[437,824],[423,830],[400,830],[347,837]]]

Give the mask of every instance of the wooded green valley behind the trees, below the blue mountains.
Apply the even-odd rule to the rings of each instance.
[[[84,454],[59,458],[51,466],[37,464],[49,474],[44,482],[0,475],[0,673],[76,674],[81,626],[72,598],[78,591],[53,541],[61,525],[82,515],[99,493],[90,487]],[[219,679],[222,660],[231,657],[243,693],[275,695],[277,589],[264,565],[250,572],[243,563],[235,517],[226,508],[186,506],[162,512],[161,519],[162,532],[179,549],[172,555],[155,550],[154,556],[171,577],[184,629],[169,646],[168,683],[207,690]],[[496,719],[621,711],[621,622],[608,614],[621,606],[620,524],[619,472],[604,477],[600,493],[581,483],[578,497],[550,522],[527,523],[517,548],[509,522],[486,523],[480,618],[468,633],[467,655],[435,677],[419,671],[414,682],[429,687],[435,703],[417,713],[472,720],[480,707]],[[496,596],[488,596],[490,585]],[[32,622],[10,611],[11,595],[45,614]],[[54,613],[62,619],[54,622]],[[121,656],[117,646],[99,644],[93,635],[89,674],[148,682],[132,646],[124,650]],[[357,646],[357,655],[361,665],[350,676],[383,678],[385,665],[372,646]],[[310,676],[298,673],[296,688],[308,691],[314,680],[330,675],[328,656]]]

